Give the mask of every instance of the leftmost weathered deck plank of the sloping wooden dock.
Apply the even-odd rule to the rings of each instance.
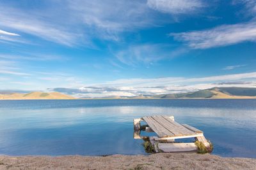
[[[174,134],[167,129],[165,129],[161,124],[156,122],[152,117],[143,117],[143,120],[148,124],[148,126],[156,132],[157,136],[160,138],[173,136]]]

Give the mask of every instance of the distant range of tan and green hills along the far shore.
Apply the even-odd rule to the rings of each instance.
[[[60,92],[30,92],[27,94],[15,92],[0,92],[0,99],[76,99]],[[79,99],[256,99],[256,88],[244,87],[214,87],[179,94],[158,94],[153,96],[111,96],[104,98]]]

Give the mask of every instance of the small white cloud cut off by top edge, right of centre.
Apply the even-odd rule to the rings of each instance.
[[[195,12],[204,5],[200,0],[148,0],[148,7],[171,14],[186,14]]]

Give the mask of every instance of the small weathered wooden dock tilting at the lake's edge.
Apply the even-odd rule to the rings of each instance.
[[[141,126],[141,122],[145,122],[147,125]],[[150,138],[141,136],[141,131],[155,132],[157,136]],[[190,152],[197,150],[195,143],[175,143],[175,139],[183,138],[195,138],[196,141],[204,143],[205,147],[210,145],[204,137],[204,132],[188,124],[175,122],[173,116],[154,115],[134,119],[134,139],[149,139],[156,152]]]

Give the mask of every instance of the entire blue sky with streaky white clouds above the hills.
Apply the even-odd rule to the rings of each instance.
[[[0,0],[0,90],[256,87],[255,0]]]

